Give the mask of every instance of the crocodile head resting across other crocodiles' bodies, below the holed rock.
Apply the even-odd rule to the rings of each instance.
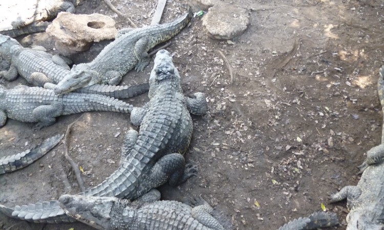
[[[89,72],[72,68],[71,73],[53,87],[53,91],[56,94],[65,94],[75,89],[88,86],[91,80],[92,75]]]

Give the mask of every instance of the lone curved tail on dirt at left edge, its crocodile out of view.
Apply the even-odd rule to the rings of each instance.
[[[33,149],[0,158],[0,174],[13,172],[29,166],[55,147],[63,136],[63,134],[57,134],[46,139],[41,145]]]

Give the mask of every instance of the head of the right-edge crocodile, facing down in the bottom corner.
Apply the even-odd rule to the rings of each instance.
[[[347,215],[346,230],[384,230],[384,223],[381,218],[378,218],[377,212],[383,213],[384,210],[351,211]]]

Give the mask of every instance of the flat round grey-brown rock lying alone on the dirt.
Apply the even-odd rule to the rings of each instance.
[[[249,23],[247,10],[233,4],[215,4],[203,17],[203,26],[208,36],[228,40],[241,35]]]

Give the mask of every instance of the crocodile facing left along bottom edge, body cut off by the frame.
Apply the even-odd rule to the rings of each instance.
[[[131,202],[116,197],[81,195],[62,195],[59,201],[68,216],[97,229],[224,230],[211,216],[212,207],[202,198],[194,207],[173,200]]]

